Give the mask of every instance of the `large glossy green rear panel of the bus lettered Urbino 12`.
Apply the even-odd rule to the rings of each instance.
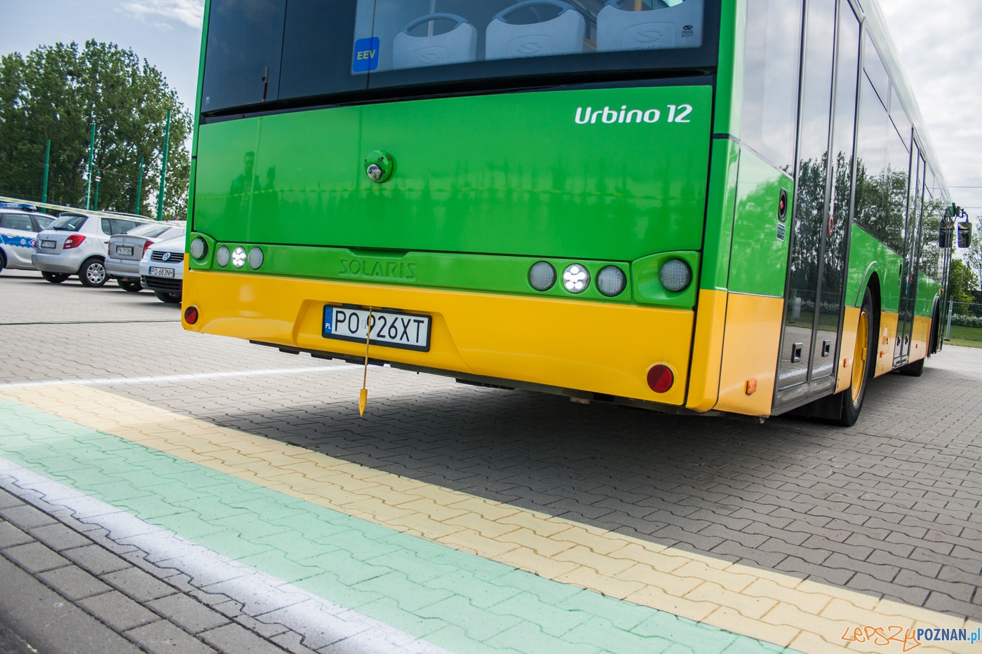
[[[692,110],[670,123],[670,105]],[[699,249],[711,105],[709,86],[599,88],[202,125],[193,227],[218,241],[621,261]],[[603,122],[622,107],[658,121]],[[577,124],[587,108],[600,117]],[[395,160],[385,184],[363,170],[375,149]]]

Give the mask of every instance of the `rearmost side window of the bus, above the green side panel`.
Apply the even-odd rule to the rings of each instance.
[[[747,0],[740,140],[794,170],[801,0]]]

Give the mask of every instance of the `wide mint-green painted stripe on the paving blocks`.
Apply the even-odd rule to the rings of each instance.
[[[459,654],[789,652],[0,400],[0,457]]]

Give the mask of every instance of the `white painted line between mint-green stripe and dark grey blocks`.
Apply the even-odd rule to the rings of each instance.
[[[224,593],[242,603],[243,612],[259,622],[300,633],[307,646],[319,649],[344,641],[341,649],[346,652],[450,654],[2,458],[0,487],[22,499],[34,497],[56,509],[64,507],[77,520],[106,529],[114,542],[138,547],[147,554],[147,561],[184,572],[191,577],[192,586]]]

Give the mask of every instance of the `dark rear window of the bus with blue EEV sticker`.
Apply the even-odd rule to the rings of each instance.
[[[201,111],[417,84],[707,69],[719,3],[212,0]]]

